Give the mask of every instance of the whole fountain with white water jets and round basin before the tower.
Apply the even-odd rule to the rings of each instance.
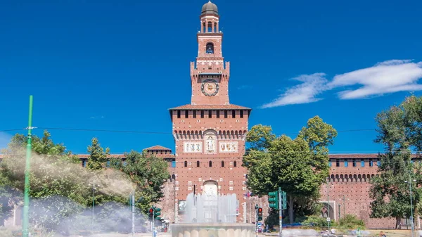
[[[203,193],[189,193],[180,224],[172,224],[172,237],[252,237],[255,224],[236,223],[236,194],[221,195],[216,181],[205,181]]]

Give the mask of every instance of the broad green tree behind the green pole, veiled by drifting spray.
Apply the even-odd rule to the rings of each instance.
[[[8,148],[4,150],[5,157],[1,162],[0,180],[7,184],[8,203],[19,203],[24,189],[25,177],[25,147],[27,137],[23,134],[16,134],[11,139]],[[42,226],[47,229],[56,226],[60,219],[75,214],[75,208],[65,208],[63,201],[53,201],[50,197],[63,196],[70,202],[88,203],[89,189],[87,180],[88,173],[79,164],[75,155],[68,152],[63,144],[53,143],[49,132],[44,131],[44,136],[32,136],[32,157],[31,157],[31,188],[32,200],[30,207],[30,222],[35,226]],[[36,201],[37,200],[37,201]],[[39,208],[42,200],[48,200],[49,210],[57,212],[47,213],[49,218],[39,217]],[[10,212],[9,212],[10,213]]]

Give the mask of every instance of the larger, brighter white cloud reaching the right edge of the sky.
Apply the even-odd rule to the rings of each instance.
[[[366,98],[398,91],[419,91],[422,84],[422,64],[411,60],[388,60],[377,63],[371,68],[359,69],[341,75],[335,75],[328,88],[360,85],[357,89],[339,92],[341,99]]]

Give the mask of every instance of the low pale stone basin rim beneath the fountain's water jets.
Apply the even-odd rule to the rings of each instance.
[[[171,224],[172,237],[253,237],[255,224],[181,223]]]

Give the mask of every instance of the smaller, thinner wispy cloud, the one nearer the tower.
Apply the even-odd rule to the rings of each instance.
[[[328,82],[325,76],[325,73],[314,73],[312,75],[295,77],[293,79],[302,82],[302,84],[288,89],[279,98],[262,105],[261,108],[319,101],[322,98],[316,98],[316,96],[325,90],[325,85]]]

